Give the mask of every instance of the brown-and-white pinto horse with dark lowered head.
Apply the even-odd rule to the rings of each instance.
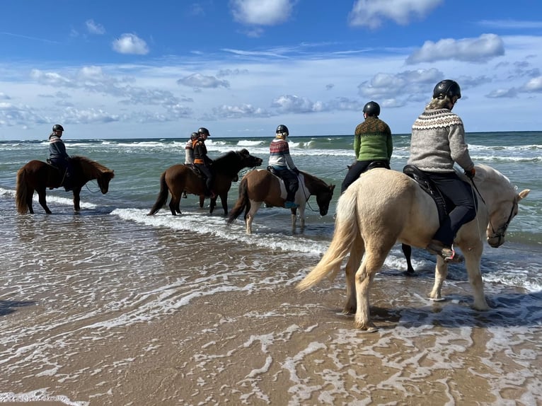
[[[233,209],[229,213],[228,224],[233,223],[245,210],[246,233],[252,233],[252,221],[256,211],[262,203],[267,206],[283,207],[286,200],[286,190],[277,176],[269,170],[253,170],[241,179],[239,185],[239,197]],[[299,172],[299,188],[296,192],[295,202],[299,204],[299,216],[301,217],[301,230],[305,227],[305,206],[311,195],[316,195],[316,203],[321,216],[328,214],[329,203],[333,197],[335,185],[327,185],[323,180],[309,173]],[[296,229],[297,209],[292,210],[292,231]]]

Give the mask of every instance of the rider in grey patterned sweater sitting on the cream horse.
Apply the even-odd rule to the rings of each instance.
[[[432,100],[413,124],[408,159],[408,164],[427,173],[445,199],[454,204],[454,209],[440,224],[426,248],[430,253],[453,262],[463,260],[454,251],[456,233],[476,216],[472,189],[454,170],[454,163],[457,163],[468,178],[475,175],[474,163],[465,143],[463,122],[451,112],[460,98],[461,88],[456,81],[446,79],[434,86]]]

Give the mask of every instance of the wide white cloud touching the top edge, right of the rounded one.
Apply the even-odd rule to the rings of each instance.
[[[400,25],[410,23],[413,17],[423,18],[444,0],[357,0],[348,20],[350,25],[379,28],[384,19]]]

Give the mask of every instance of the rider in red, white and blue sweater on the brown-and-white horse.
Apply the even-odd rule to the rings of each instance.
[[[277,136],[271,141],[269,146],[270,156],[269,165],[273,168],[273,172],[279,178],[284,180],[284,186],[286,186],[287,197],[284,202],[284,207],[287,209],[294,209],[299,206],[294,202],[297,187],[299,187],[299,169],[294,165],[292,156],[290,156],[290,150],[288,141],[286,140],[289,132],[288,127],[284,124],[280,124],[277,127]]]

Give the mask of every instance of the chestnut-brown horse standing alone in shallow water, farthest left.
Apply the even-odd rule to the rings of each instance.
[[[89,180],[98,182],[100,191],[105,195],[109,190],[109,182],[115,176],[113,170],[103,166],[101,163],[92,161],[84,156],[72,156],[71,165],[73,167],[71,177],[73,182],[74,193],[74,210],[81,211],[79,203],[81,198],[81,188]],[[49,163],[42,161],[30,161],[17,172],[15,202],[17,211],[21,214],[30,211],[34,214],[32,207],[32,199],[34,191],[38,192],[39,202],[41,207],[45,209],[47,214],[51,214],[47,201],[45,199],[45,190],[47,187],[56,189],[62,186],[64,171],[55,168]]]

